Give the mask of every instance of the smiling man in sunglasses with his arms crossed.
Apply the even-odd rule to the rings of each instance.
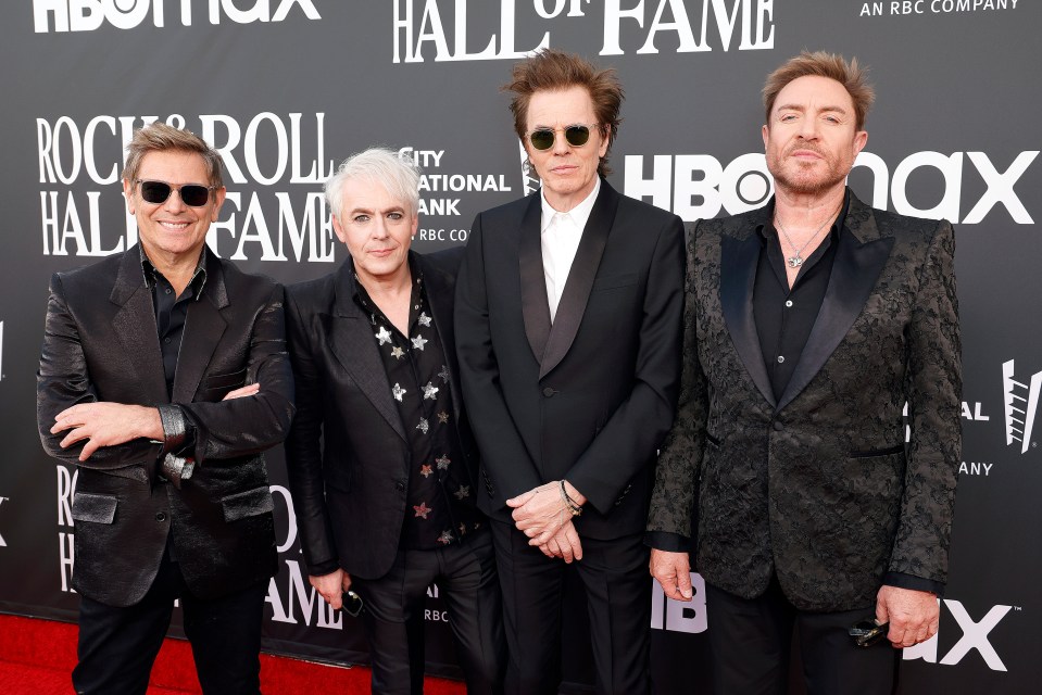
[[[203,692],[260,692],[276,570],[261,452],[293,416],[283,289],[206,250],[221,157],[162,123],[123,175],[140,244],[51,279],[37,387],[47,452],[78,467],[77,693],[146,692],[180,599]]]

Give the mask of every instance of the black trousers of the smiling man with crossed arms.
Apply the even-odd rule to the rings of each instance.
[[[80,596],[79,662],[73,669],[73,686],[83,695],[143,695],[174,599],[179,598],[203,693],[256,695],[266,595],[267,582],[259,582],[230,596],[197,598],[166,553],[140,603],[117,608]]]

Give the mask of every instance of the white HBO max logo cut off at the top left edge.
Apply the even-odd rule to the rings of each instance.
[[[166,26],[167,5],[177,13],[181,25],[191,26],[193,0],[33,0],[33,25],[37,34],[49,31],[93,31],[109,23],[117,29],[133,29],[151,17],[153,26]],[[321,20],[314,0],[209,0],[210,24],[221,18],[236,24],[281,22],[293,8],[309,20]],[[277,3],[277,4],[276,4]]]

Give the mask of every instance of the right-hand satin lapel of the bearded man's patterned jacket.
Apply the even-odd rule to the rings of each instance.
[[[840,231],[832,275],[806,346],[786,387],[778,409],[792,402],[832,355],[861,315],[890,257],[893,237],[881,237],[871,208],[851,193]]]

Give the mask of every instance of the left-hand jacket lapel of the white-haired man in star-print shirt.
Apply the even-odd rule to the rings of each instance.
[[[375,329],[369,317],[354,301],[354,264],[349,257],[340,266],[336,278],[336,296],[332,315],[329,316],[330,349],[334,355],[354,380],[388,425],[405,439],[402,418],[391,396],[384,363],[373,342]]]

